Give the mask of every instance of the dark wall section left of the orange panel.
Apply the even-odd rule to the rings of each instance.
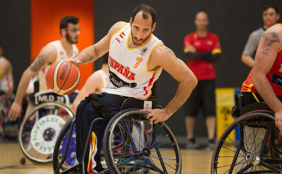
[[[1,0],[0,42],[13,66],[15,89],[30,64],[30,1]]]

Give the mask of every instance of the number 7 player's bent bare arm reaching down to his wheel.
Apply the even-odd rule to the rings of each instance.
[[[174,52],[166,46],[158,46],[151,54],[151,65],[156,65],[166,70],[175,80],[179,82],[176,94],[171,102],[164,109],[153,109],[144,111],[150,112],[147,118],[158,123],[167,120],[175,113],[190,96],[197,85],[197,78],[187,65],[177,58]]]

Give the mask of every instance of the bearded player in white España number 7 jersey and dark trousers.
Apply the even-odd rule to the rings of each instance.
[[[91,143],[85,149],[89,153],[84,158],[84,167],[88,173],[103,170],[100,151],[107,122],[95,122],[91,142],[86,142],[90,124],[94,119],[105,116],[110,118],[113,111],[121,109],[122,103],[128,97],[140,100],[149,98],[152,94],[151,88],[162,69],[171,74],[179,82],[179,86],[175,97],[164,109],[142,109],[149,112],[147,119],[150,122],[157,124],[167,120],[187,100],[197,85],[197,78],[186,64],[151,33],[156,27],[155,20],[156,12],[151,6],[138,5],[129,23],[114,24],[104,38],[69,60],[79,66],[93,62],[109,52],[109,79],[102,94],[90,94],[80,102],[76,110],[76,155],[80,164],[85,144]],[[170,88],[166,90],[175,92]],[[76,173],[81,173],[81,168]]]

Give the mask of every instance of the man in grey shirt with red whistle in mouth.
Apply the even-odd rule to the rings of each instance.
[[[280,15],[276,6],[267,6],[263,9],[264,25],[263,27],[260,27],[250,34],[241,56],[241,60],[244,64],[248,65],[251,68],[254,67],[255,60],[253,57],[255,57],[255,52],[257,50],[257,46],[259,45],[259,40],[261,39],[263,32],[265,32],[267,28],[276,24],[279,18]]]

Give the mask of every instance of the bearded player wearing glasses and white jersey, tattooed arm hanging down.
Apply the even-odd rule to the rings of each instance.
[[[63,17],[60,21],[61,39],[52,41],[45,45],[31,65],[23,72],[17,89],[15,101],[12,103],[8,114],[12,121],[16,120],[20,116],[22,109],[21,103],[30,80],[34,76],[38,75],[39,91],[48,89],[45,75],[47,74],[49,67],[56,61],[67,60],[68,58],[73,58],[78,54],[78,49],[75,45],[75,43],[78,43],[78,36],[80,34],[78,21],[79,19],[75,16]],[[28,103],[26,113],[28,113],[32,107],[34,107],[33,104],[31,102]]]

